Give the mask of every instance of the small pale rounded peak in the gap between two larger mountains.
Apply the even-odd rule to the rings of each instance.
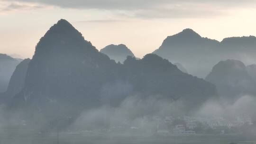
[[[127,56],[135,57],[135,55],[131,52],[130,49],[126,45],[108,45],[101,49],[100,51],[103,54],[106,54],[110,57],[110,59],[115,60],[117,63],[123,63]]]

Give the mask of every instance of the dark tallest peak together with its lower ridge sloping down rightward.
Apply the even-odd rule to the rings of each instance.
[[[115,63],[61,19],[40,39],[28,64],[24,88],[9,100],[8,107],[25,108],[28,114],[39,112],[51,124],[66,126],[68,117],[84,109],[118,106],[131,95],[183,99],[191,110],[216,96],[217,90],[155,54],[141,60],[128,56],[124,64]]]

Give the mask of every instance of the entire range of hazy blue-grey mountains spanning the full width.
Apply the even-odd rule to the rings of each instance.
[[[9,75],[9,80],[3,82],[9,85],[0,94],[1,103],[11,112],[22,111],[21,119],[38,121],[39,117],[45,125],[59,126],[68,126],[85,109],[119,107],[134,97],[136,103],[152,98],[179,102],[184,112],[190,112],[209,99],[234,101],[242,95],[256,94],[255,64],[220,61],[224,57],[239,58],[238,54],[232,55],[239,51],[253,53],[253,42],[253,36],[218,42],[185,29],[168,36],[154,54],[137,59],[122,44],[108,45],[99,52],[61,19],[40,39],[31,60],[20,62],[0,55],[0,66],[5,68],[0,69],[1,77]],[[190,72],[208,75],[204,80]],[[133,117],[141,117],[145,111],[152,114],[155,108],[137,111]]]

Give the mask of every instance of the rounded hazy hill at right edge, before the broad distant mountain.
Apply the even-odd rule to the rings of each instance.
[[[205,80],[215,84],[219,95],[227,98],[256,94],[256,82],[248,74],[245,64],[238,60],[220,61]]]

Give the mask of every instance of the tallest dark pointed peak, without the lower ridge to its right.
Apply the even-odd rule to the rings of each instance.
[[[42,105],[62,100],[77,106],[98,100],[102,84],[111,82],[114,61],[98,52],[69,22],[61,19],[36,46],[29,63],[22,99]],[[81,103],[82,102],[82,103]],[[81,105],[79,105],[81,104]]]

